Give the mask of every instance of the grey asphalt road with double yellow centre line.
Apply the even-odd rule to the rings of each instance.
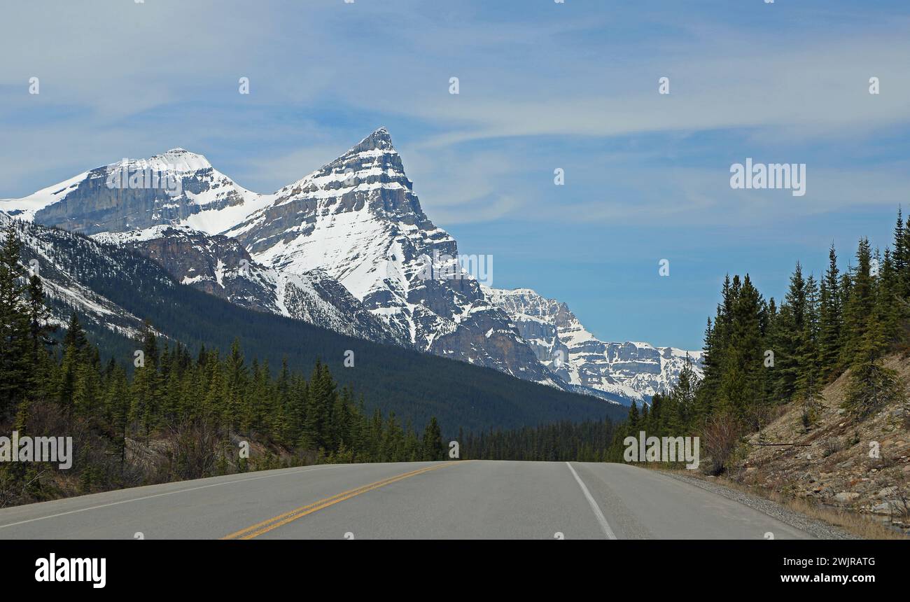
[[[769,532],[810,538],[678,479],[584,462],[286,468],[0,510],[3,539],[763,539]]]

